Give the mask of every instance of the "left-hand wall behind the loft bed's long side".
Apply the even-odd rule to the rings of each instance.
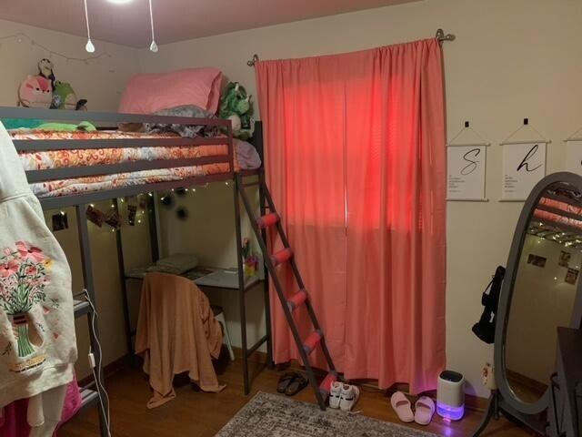
[[[69,36],[58,32],[39,29],[27,25],[0,20],[0,38],[4,36],[24,33],[39,44],[50,50],[63,53],[69,57],[87,57],[85,39]],[[18,43],[15,38],[0,41],[0,106],[15,106],[17,91],[20,83],[28,75],[36,75],[37,62],[48,57],[49,53],[39,46],[32,46],[28,38],[23,37]],[[125,46],[115,46],[109,43],[95,41],[97,48],[95,55],[106,52],[111,57],[102,57],[84,62],[66,60],[59,56],[52,56],[55,64],[55,76],[59,80],[70,82],[78,98],[86,98],[87,106],[91,110],[115,111],[119,96],[125,87],[125,82],[138,69],[137,53],[134,49]],[[97,205],[99,208],[110,208],[110,202]],[[76,234],[75,210],[66,208],[69,229],[55,233],[65,249],[65,253],[74,276],[74,292],[79,292],[83,286],[79,246]],[[51,223],[51,216],[55,211],[47,211],[47,223]],[[125,227],[127,228],[127,227]],[[120,277],[117,268],[117,252],[115,234],[109,227],[97,228],[89,223],[95,273],[95,292],[97,309],[100,313],[101,339],[103,341],[105,363],[115,361],[126,353],[125,331],[122,310],[122,293]],[[147,233],[145,228],[124,229],[126,264],[129,267],[146,261],[148,257]],[[133,246],[135,250],[127,250]],[[141,258],[140,258],[141,257]],[[80,378],[90,373],[87,365],[88,336],[86,320],[77,320],[77,338],[79,360],[77,374]]]

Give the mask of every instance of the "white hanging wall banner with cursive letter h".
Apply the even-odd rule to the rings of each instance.
[[[546,176],[546,141],[503,145],[503,193],[501,200],[525,200]]]

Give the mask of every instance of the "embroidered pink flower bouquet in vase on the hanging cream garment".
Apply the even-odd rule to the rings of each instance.
[[[18,357],[34,351],[29,337],[27,313],[46,300],[45,287],[50,282],[51,261],[42,249],[25,241],[16,241],[15,249],[6,248],[0,256],[0,309],[11,316],[15,331]],[[58,302],[53,301],[58,305]],[[6,353],[6,351],[5,351]],[[9,352],[8,352],[9,353]]]

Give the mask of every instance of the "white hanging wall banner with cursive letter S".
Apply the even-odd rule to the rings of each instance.
[[[477,200],[485,198],[487,145],[448,145],[447,200]]]

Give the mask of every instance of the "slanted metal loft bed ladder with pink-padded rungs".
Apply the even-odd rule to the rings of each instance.
[[[246,194],[246,188],[258,186],[259,197],[261,201],[265,201],[265,208],[268,209],[268,213],[261,217],[256,217],[253,212],[253,207]],[[293,249],[289,245],[287,240],[285,230],[281,225],[280,216],[276,212],[275,203],[273,198],[271,198],[271,193],[266,186],[265,173],[261,171],[258,175],[258,181],[253,183],[243,183],[240,174],[236,174],[236,190],[238,191],[240,197],[245,205],[246,213],[251,221],[251,226],[255,231],[256,239],[263,252],[263,259],[265,260],[266,269],[268,270],[269,276],[273,280],[273,285],[275,286],[276,294],[279,297],[283,311],[285,312],[287,324],[293,333],[293,338],[296,342],[297,349],[299,351],[299,356],[301,361],[306,368],[307,379],[311,388],[315,392],[317,403],[321,410],[326,410],[326,399],[329,396],[329,391],[331,384],[337,380],[337,371],[334,361],[332,361],[331,355],[327,349],[326,337],[323,330],[319,326],[317,321],[316,311],[313,309],[311,300],[309,299],[309,292],[306,290],[305,283],[301,278],[301,273],[297,267]],[[263,208],[262,208],[263,209]],[[266,211],[265,211],[266,212]],[[271,254],[266,246],[266,232],[265,230],[275,226],[276,232],[279,238],[283,242],[284,249]],[[293,275],[296,279],[297,289],[290,295],[286,296],[285,290],[279,281],[276,274],[276,266],[280,264],[288,263],[293,271]],[[294,319],[294,312],[299,310],[301,307],[305,307],[307,313],[309,314],[309,319],[313,325],[313,331],[306,337],[302,339],[297,330],[297,325]],[[267,309],[268,310],[268,309]],[[309,355],[316,350],[317,346],[320,346],[324,352],[326,358],[327,367],[329,369],[326,377],[321,383],[316,380],[316,375],[309,363]]]

